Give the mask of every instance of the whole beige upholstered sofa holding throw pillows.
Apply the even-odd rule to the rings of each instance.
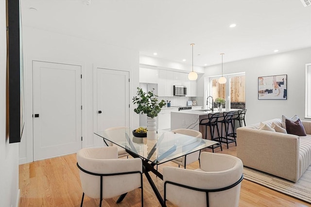
[[[263,122],[281,126],[281,119]],[[237,129],[237,157],[244,166],[296,182],[311,164],[311,121],[307,136],[260,130],[259,123]]]

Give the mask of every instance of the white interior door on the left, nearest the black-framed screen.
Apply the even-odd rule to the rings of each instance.
[[[82,147],[81,66],[33,62],[34,160]]]

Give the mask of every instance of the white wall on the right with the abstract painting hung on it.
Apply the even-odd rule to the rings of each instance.
[[[305,119],[305,64],[311,63],[311,48],[224,64],[224,75],[245,72],[246,124],[282,114]],[[258,77],[287,74],[287,100],[258,100]],[[221,64],[208,66],[198,80],[198,96],[204,95],[204,77],[221,75]]]

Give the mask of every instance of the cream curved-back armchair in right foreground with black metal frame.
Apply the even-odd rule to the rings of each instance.
[[[200,169],[163,168],[164,200],[178,207],[238,207],[241,159],[202,152]]]

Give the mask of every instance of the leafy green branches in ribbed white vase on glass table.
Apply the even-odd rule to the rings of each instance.
[[[158,102],[154,94],[154,90],[148,93],[144,92],[141,88],[137,87],[137,94],[133,97],[133,103],[137,104],[134,109],[136,113],[145,113],[147,115],[147,139],[156,139],[156,124],[155,117],[161,111],[161,108],[166,105],[164,100]]]

